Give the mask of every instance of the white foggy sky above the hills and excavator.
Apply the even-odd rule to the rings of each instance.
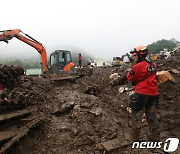
[[[112,60],[137,45],[180,40],[179,0],[16,0],[2,1],[0,30],[21,29],[46,46]],[[0,42],[1,58],[36,58],[13,38]]]

